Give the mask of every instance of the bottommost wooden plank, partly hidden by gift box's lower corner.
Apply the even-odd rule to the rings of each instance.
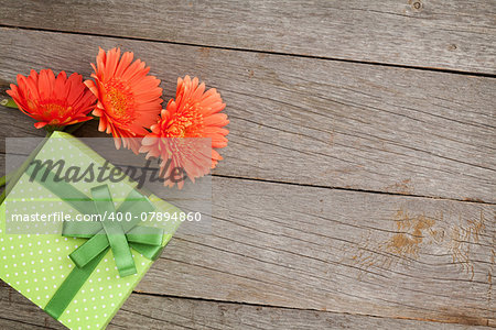
[[[0,328],[65,329],[12,288],[0,286]],[[466,329],[445,324],[132,294],[107,329]],[[472,327],[471,329],[487,329]]]

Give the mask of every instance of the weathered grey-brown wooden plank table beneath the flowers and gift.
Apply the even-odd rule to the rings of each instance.
[[[2,90],[120,46],[228,105],[213,233],[175,237],[110,329],[496,327],[496,1],[0,0],[0,25]],[[4,284],[0,310],[61,328]]]

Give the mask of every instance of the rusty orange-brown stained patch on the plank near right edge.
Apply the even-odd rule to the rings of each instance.
[[[481,243],[483,235],[487,239],[483,210],[479,211],[477,219],[463,219],[459,215],[459,223],[450,224],[446,223],[442,211],[434,216],[412,215],[407,209],[401,208],[393,216],[393,233],[386,240],[374,240],[370,232],[362,237],[356,248],[358,251],[351,257],[352,263],[364,271],[368,271],[370,267],[391,270],[399,263],[408,267],[412,260],[420,258],[423,246],[435,245],[442,248],[452,256],[453,265],[459,265],[461,272],[470,275],[470,280],[474,279],[475,263],[472,261],[472,250]],[[493,238],[493,240],[496,239]],[[484,244],[487,244],[487,242]],[[487,270],[488,300],[490,300],[492,295],[494,248],[492,253],[492,260],[487,262],[489,265]],[[484,270],[481,271],[484,272]]]

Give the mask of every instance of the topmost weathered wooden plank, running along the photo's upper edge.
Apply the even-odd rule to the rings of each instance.
[[[1,24],[496,73],[494,0],[2,1]]]

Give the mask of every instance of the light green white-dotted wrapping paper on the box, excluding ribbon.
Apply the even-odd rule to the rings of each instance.
[[[45,162],[61,157],[67,165],[80,167],[89,166],[91,163],[101,166],[105,163],[103,157],[76,138],[54,132],[37,152],[35,160]],[[107,185],[116,208],[125,202],[126,196],[137,189],[137,183],[128,178],[119,183],[103,184]],[[87,196],[90,196],[91,189],[96,186],[95,183],[84,180],[71,185]],[[43,196],[44,201],[33,205],[31,201],[40,196]],[[158,212],[181,212],[154,195],[149,195],[148,200]],[[30,182],[28,173],[19,177],[0,206],[0,278],[33,304],[45,309],[54,296],[61,294],[60,289],[61,287],[64,289],[64,282],[78,267],[69,254],[84,245],[88,239],[64,237],[61,233],[10,233],[12,223],[7,224],[7,217],[9,212],[17,211],[63,212],[75,216],[78,210],[53,194],[45,185]],[[179,224],[179,221],[161,224],[164,232],[161,246],[168,244]],[[151,258],[134,249],[130,249],[130,252],[136,274],[121,277],[112,249],[107,249],[57,320],[69,329],[105,329],[153,264]]]

